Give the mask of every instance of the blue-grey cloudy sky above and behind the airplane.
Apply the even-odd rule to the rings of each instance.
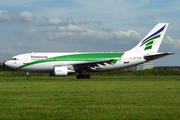
[[[0,61],[28,52],[124,52],[168,22],[156,66],[180,64],[179,0],[1,0]]]

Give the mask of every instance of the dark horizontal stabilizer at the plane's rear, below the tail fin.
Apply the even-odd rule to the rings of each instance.
[[[147,61],[155,60],[161,57],[165,57],[167,55],[174,54],[173,52],[168,52],[168,53],[150,53],[144,56],[144,59]]]

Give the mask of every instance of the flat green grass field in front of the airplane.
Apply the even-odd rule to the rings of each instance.
[[[180,119],[180,76],[0,77],[0,119]]]

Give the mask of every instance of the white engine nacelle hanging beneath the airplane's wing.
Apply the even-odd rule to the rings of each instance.
[[[54,76],[66,77],[68,75],[67,67],[54,67]]]

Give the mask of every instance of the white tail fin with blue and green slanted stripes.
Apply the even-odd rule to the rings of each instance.
[[[127,52],[156,53],[159,50],[169,23],[158,23],[137,46]]]

